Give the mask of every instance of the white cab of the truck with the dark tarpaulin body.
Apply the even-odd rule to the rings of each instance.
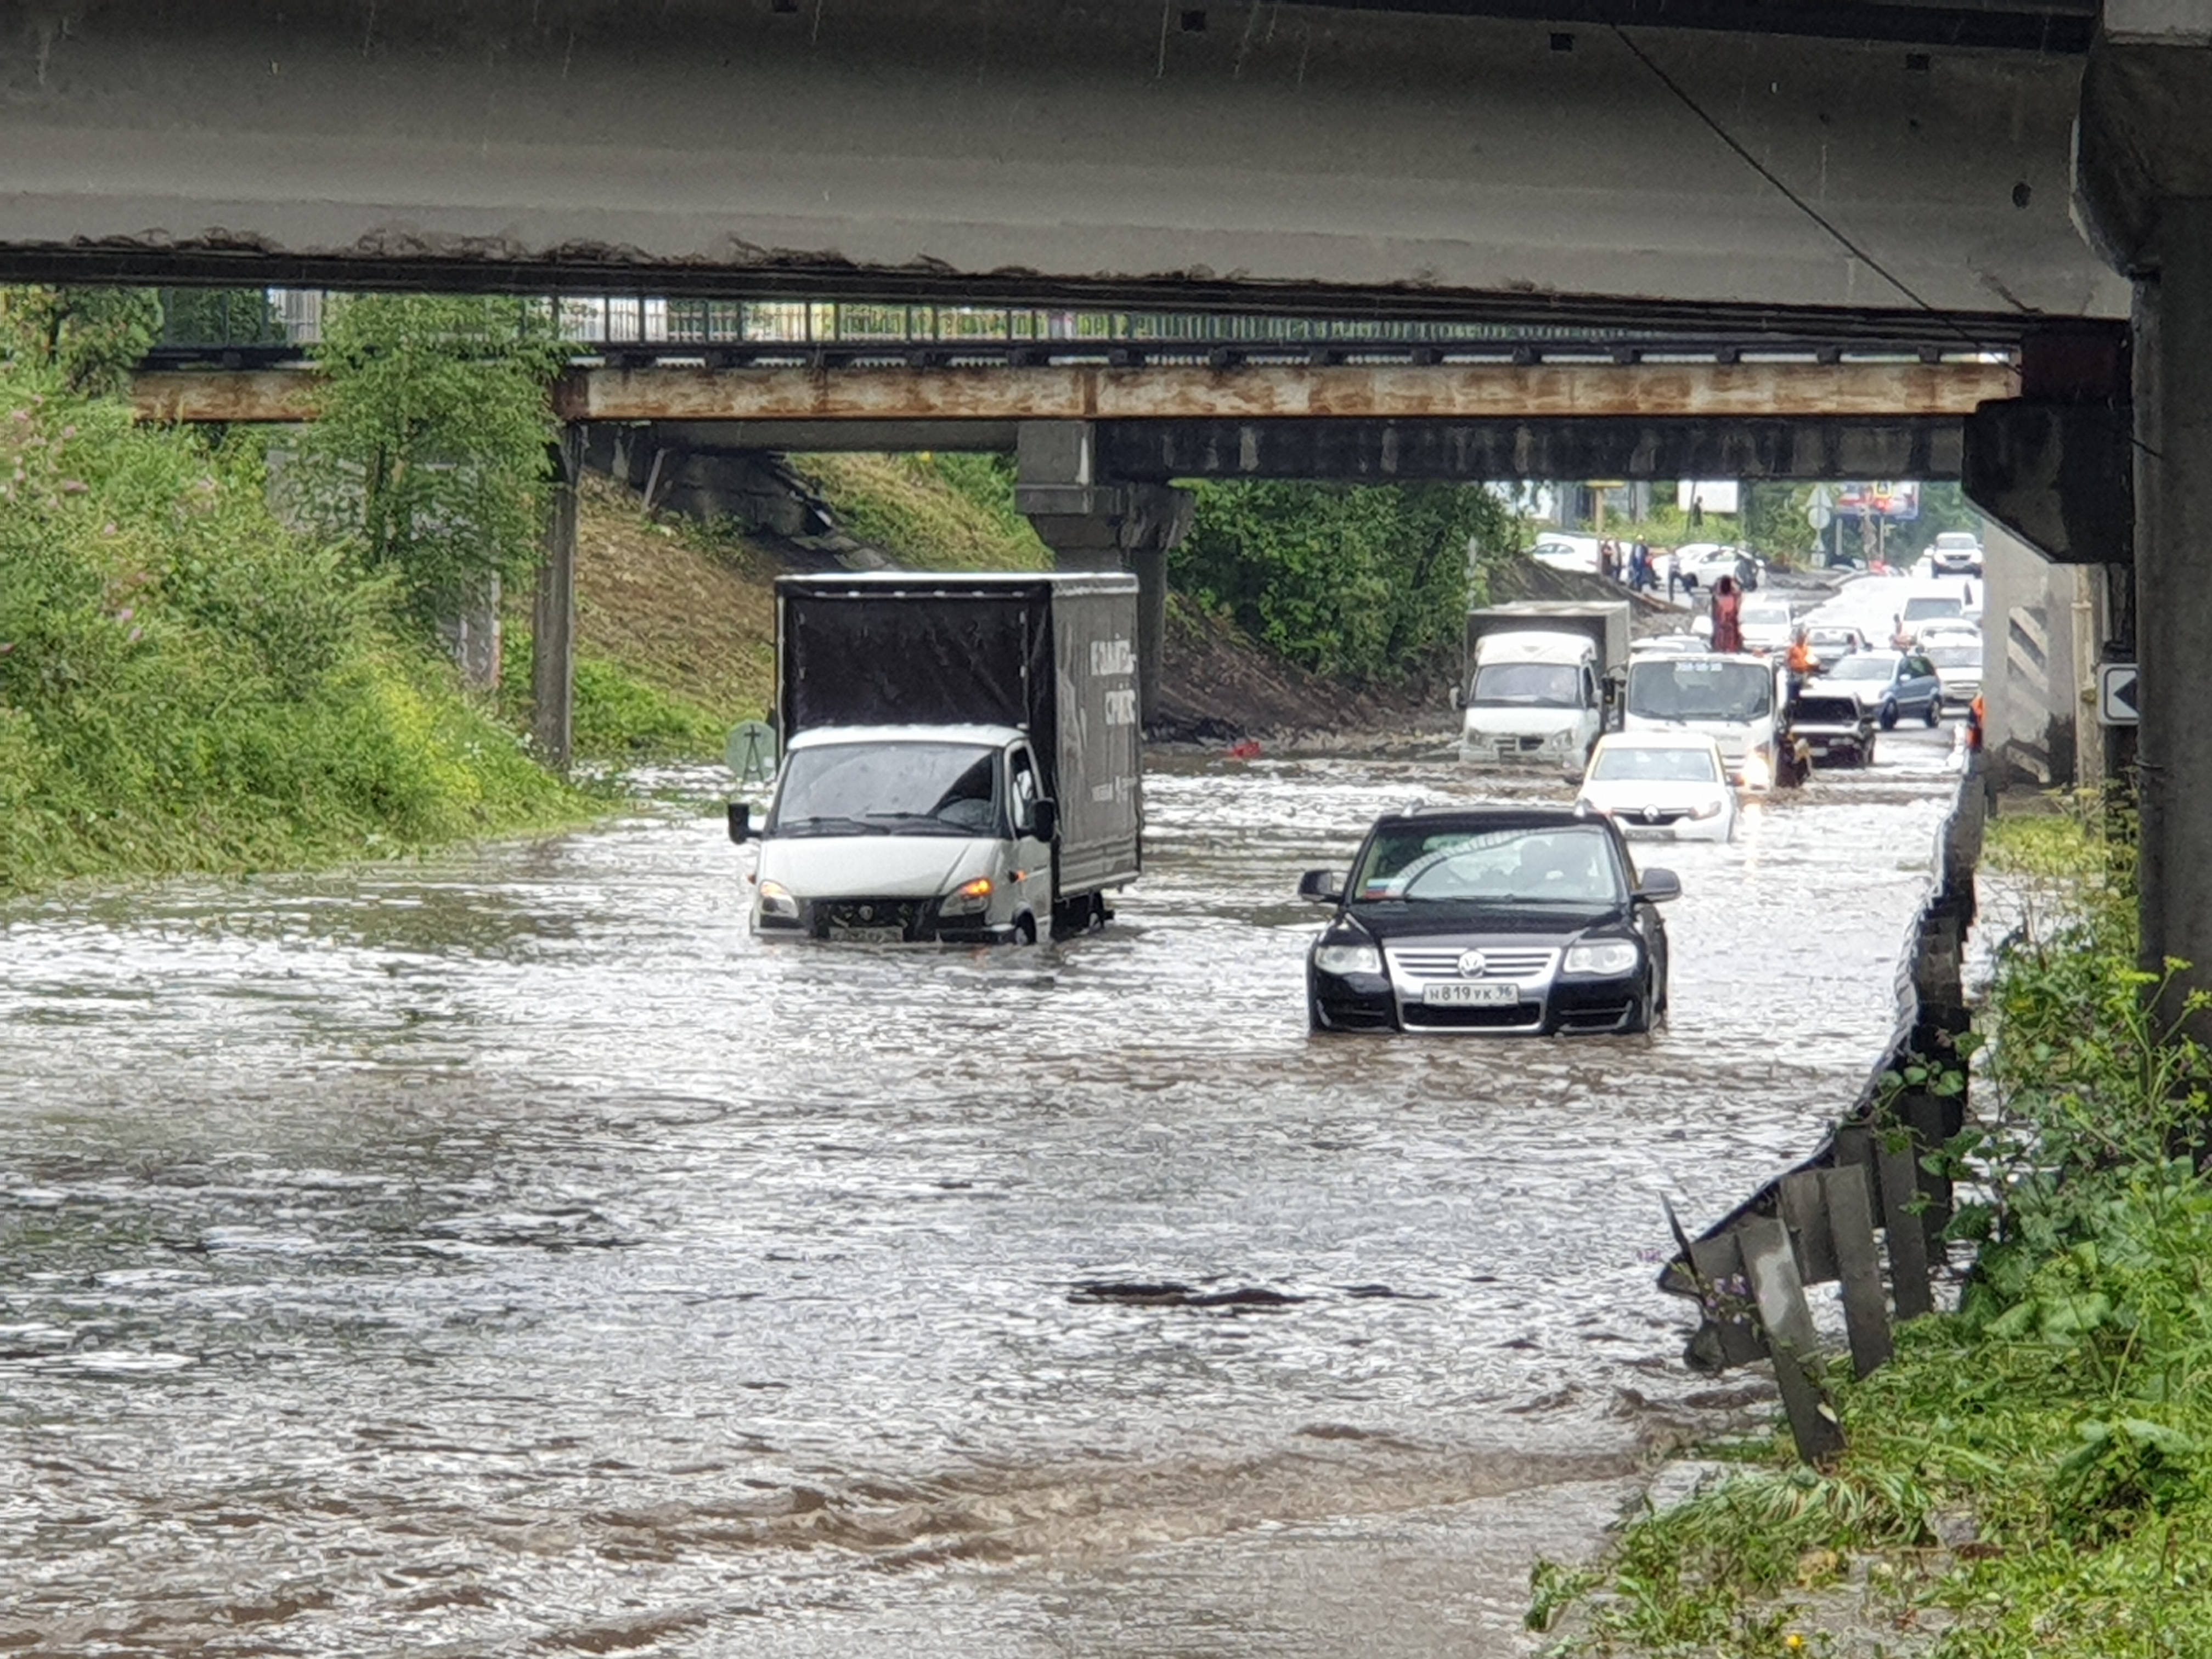
[[[792,739],[761,823],[761,933],[887,945],[1035,942],[1053,832],[1029,734],[847,726]]]

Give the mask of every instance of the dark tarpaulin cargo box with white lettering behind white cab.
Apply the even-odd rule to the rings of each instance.
[[[1055,894],[1137,878],[1137,577],[869,571],[776,580],[783,739],[1015,726],[1060,803]]]

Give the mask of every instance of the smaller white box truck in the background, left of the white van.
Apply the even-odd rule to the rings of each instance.
[[[1628,661],[1628,599],[1528,599],[1467,613],[1460,752],[1579,779]]]

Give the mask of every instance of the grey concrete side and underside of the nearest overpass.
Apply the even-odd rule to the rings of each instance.
[[[1851,11],[2081,31],[2079,7]],[[86,0],[15,29],[0,276],[1794,314],[1922,338],[1947,314],[2128,305],[2068,221],[2081,58],[1907,51],[1913,29],[1203,0]]]

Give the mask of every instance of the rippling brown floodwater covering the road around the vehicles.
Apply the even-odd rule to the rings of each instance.
[[[1159,761],[1060,947],[761,945],[681,805],[18,902],[0,1648],[1522,1652],[1741,1398],[1661,1199],[1865,1079],[1938,737],[1644,849],[1648,1040],[1307,1035],[1298,872],[1449,759]]]

